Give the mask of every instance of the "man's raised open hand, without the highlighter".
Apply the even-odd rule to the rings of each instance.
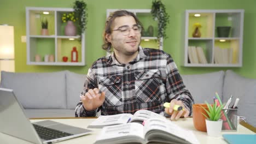
[[[89,89],[85,95],[81,95],[83,106],[86,111],[96,110],[105,100],[105,92],[101,92],[98,88]]]

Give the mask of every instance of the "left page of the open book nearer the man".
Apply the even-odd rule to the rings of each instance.
[[[93,121],[88,128],[102,128],[107,125],[124,124],[130,121],[132,115],[129,113],[121,113],[118,115],[100,116]]]

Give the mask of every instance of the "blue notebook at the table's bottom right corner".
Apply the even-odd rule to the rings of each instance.
[[[246,135],[246,134],[224,134],[222,135],[224,140],[229,144],[238,144],[238,143],[246,143],[246,144],[255,144],[256,143],[256,135]]]

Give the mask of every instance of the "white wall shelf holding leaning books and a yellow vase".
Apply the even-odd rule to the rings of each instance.
[[[243,15],[242,9],[185,10],[183,66],[242,67]],[[201,37],[193,37],[199,23]],[[231,29],[223,35],[218,27]]]

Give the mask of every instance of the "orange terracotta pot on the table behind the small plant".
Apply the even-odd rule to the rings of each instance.
[[[205,131],[206,132],[206,124],[205,124],[205,116],[202,115],[204,113],[207,116],[207,113],[205,110],[202,109],[202,107],[205,107],[206,110],[208,110],[208,107],[206,104],[194,104],[193,105],[193,123],[194,127],[199,131]]]

